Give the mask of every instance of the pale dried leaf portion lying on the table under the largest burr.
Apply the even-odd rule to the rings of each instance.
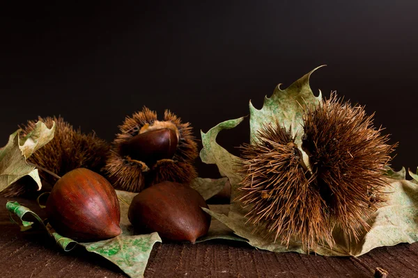
[[[323,256],[361,256],[376,247],[392,246],[398,243],[415,243],[418,241],[418,184],[411,181],[393,180],[387,188],[388,199],[384,206],[371,215],[368,223],[369,232],[362,231],[359,241],[350,240],[348,235],[334,230],[336,245],[330,249],[319,245],[317,254]],[[302,243],[292,242],[288,248],[279,243],[272,243],[254,232],[254,227],[247,224],[247,218],[241,213],[230,212],[228,216],[203,208],[214,218],[232,229],[236,235],[247,238],[250,245],[272,252],[299,252]],[[219,236],[218,238],[222,238]]]

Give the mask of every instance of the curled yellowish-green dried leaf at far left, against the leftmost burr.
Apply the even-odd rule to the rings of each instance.
[[[28,165],[26,158],[52,140],[54,131],[55,124],[51,129],[48,129],[43,122],[38,122],[33,132],[22,140],[19,136],[20,130],[10,135],[7,145],[0,151],[0,192],[26,175],[36,181],[38,190],[40,190],[42,183],[38,170],[32,165]]]

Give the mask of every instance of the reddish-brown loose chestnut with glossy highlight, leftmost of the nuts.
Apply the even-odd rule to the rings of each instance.
[[[107,179],[77,168],[59,179],[47,199],[49,223],[62,236],[79,241],[121,234],[118,196]]]

